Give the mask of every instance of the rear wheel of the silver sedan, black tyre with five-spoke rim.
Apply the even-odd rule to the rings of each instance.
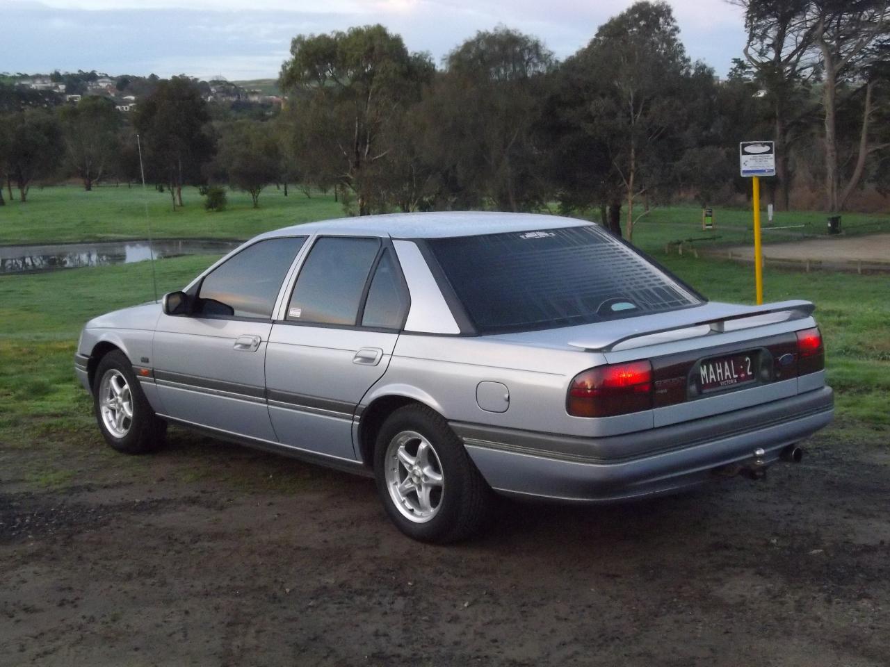
[[[488,518],[491,489],[441,414],[426,406],[392,413],[377,434],[377,491],[402,533],[457,542]]]

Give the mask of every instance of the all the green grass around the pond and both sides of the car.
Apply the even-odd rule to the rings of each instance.
[[[96,193],[38,190],[26,205],[0,208],[4,243],[144,236],[143,213],[138,206],[132,210],[132,192],[124,188],[99,193],[100,197],[90,198]],[[261,197],[259,211],[235,196],[231,210],[222,214],[205,213],[195,193],[190,193],[188,207],[177,213],[166,211],[166,197],[154,192],[151,196],[156,199],[150,209],[157,213],[156,236],[249,237],[287,222],[341,213],[331,197],[307,199],[294,193],[286,199],[274,189]],[[752,302],[750,267],[663,253],[667,237],[690,228],[687,214],[692,213],[692,209],[653,212],[637,229],[635,240],[708,298]],[[862,216],[862,220],[867,218]],[[158,261],[160,292],[185,285],[214,259]],[[98,445],[89,400],[73,377],[77,334],[90,317],[151,298],[148,262],[0,277],[0,445],[52,443],[53,452],[62,458],[86,444]],[[877,445],[886,446],[882,434],[890,429],[890,277],[768,269],[765,300],[788,298],[817,304],[828,347],[829,382],[838,392],[838,414],[854,428],[873,433]],[[3,455],[0,451],[0,462]],[[47,483],[54,483],[53,475],[59,470],[37,471],[36,479],[49,475]]]

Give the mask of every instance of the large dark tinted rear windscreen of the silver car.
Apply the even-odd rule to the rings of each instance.
[[[595,227],[427,241],[479,333],[688,308],[699,296]]]

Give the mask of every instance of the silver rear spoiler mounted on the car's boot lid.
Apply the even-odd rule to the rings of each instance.
[[[656,324],[656,322],[652,321],[651,324],[654,325],[652,326],[652,328],[645,327],[642,329],[638,329],[633,333],[620,335],[617,338],[611,338],[608,333],[603,332],[606,334],[605,336],[591,336],[591,339],[601,338],[603,340],[570,341],[569,344],[574,348],[580,348],[581,350],[590,352],[611,352],[615,351],[619,347],[621,350],[628,350],[636,347],[643,347],[649,344],[655,344],[657,342],[670,342],[685,340],[689,338],[699,338],[702,336],[713,335],[715,333],[724,333],[727,331],[735,331],[739,329],[750,329],[757,326],[775,324],[776,322],[787,322],[789,320],[803,319],[812,315],[813,310],[816,309],[816,307],[810,301],[779,301],[776,303],[767,304],[765,306],[737,307],[730,307],[729,304],[708,304],[708,306],[712,307],[723,305],[727,306],[727,308],[719,308],[721,310],[724,310],[724,313],[721,313],[717,317],[706,317],[698,320],[690,318],[686,321],[676,322],[676,319],[678,319],[677,316],[681,315],[683,311],[673,311],[670,313],[660,314],[660,316],[649,317],[651,318],[651,320],[654,320],[656,317],[658,317],[659,320],[666,323],[670,321],[670,319],[674,319],[675,324],[673,325],[659,326]],[[708,306],[706,306],[706,309],[710,309],[708,308]],[[618,321],[627,323],[627,320]],[[671,336],[669,335],[670,333],[676,333],[676,335]],[[653,340],[651,342],[644,342],[643,340],[641,340],[646,338],[660,340]],[[638,345],[623,344],[635,340],[639,342]]]

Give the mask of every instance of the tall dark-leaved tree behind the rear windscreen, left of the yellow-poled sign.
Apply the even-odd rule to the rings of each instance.
[[[638,2],[601,26],[578,52],[570,68],[583,86],[579,122],[601,142],[611,162],[612,178],[627,204],[625,233],[649,212],[635,216],[638,199],[661,197],[676,185],[670,162],[684,151],[687,111],[697,79],[713,72],[692,68],[670,6]],[[618,208],[617,197],[610,197]]]

